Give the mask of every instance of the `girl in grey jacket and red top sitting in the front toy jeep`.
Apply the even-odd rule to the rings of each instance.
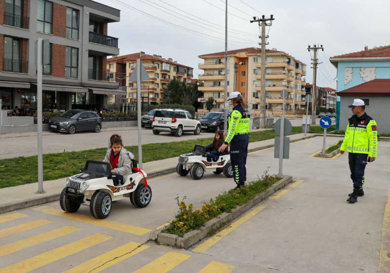
[[[113,180],[114,186],[124,184],[126,177],[132,173],[131,159],[134,158],[132,152],[128,152],[122,146],[122,138],[120,135],[112,135],[109,139],[109,147],[106,152],[106,157],[103,161],[111,164],[111,173],[117,174],[117,179]]]

